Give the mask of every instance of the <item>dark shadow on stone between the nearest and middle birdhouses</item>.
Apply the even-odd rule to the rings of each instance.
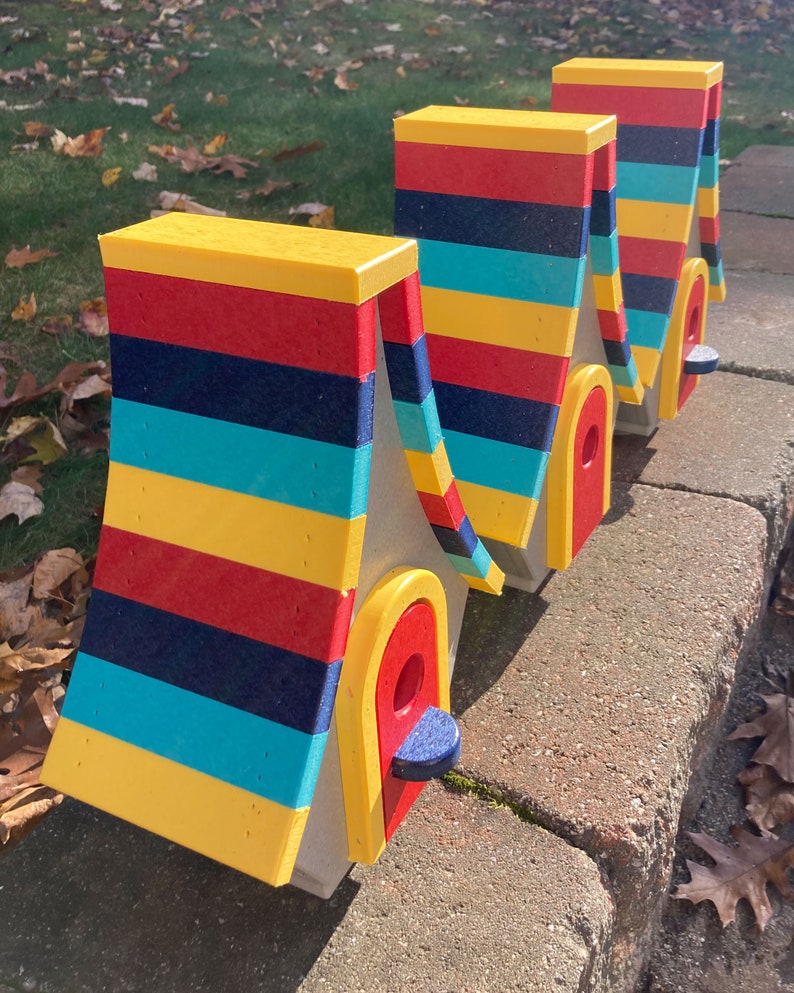
[[[450,688],[453,714],[462,714],[499,679],[543,616],[537,593],[505,587],[500,597],[469,593]]]

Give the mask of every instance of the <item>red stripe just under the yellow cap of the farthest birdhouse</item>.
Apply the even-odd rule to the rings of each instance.
[[[704,128],[707,96],[706,90],[554,83],[551,109],[577,114],[616,114],[620,124]]]

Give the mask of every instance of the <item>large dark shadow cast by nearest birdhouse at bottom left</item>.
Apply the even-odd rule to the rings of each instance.
[[[290,993],[347,913],[67,800],[0,861],[0,989]]]

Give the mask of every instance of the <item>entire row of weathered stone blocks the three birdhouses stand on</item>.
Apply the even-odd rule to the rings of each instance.
[[[67,801],[0,861],[0,993],[633,990],[794,515],[794,148],[722,188],[721,371],[617,440],[567,573],[467,611],[459,771],[535,823],[431,784],[322,901]]]

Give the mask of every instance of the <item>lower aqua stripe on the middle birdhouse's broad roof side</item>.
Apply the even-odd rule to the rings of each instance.
[[[445,431],[444,443],[456,478],[533,500],[540,498],[548,452],[457,431]]]

